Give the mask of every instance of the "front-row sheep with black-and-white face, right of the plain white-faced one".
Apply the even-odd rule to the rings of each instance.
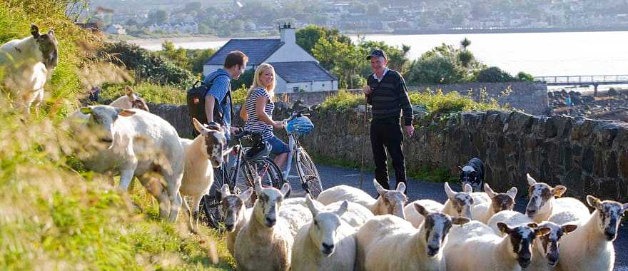
[[[357,270],[445,270],[441,248],[447,244],[447,233],[452,225],[470,220],[413,206],[425,216],[419,229],[393,215],[375,217],[360,227]]]

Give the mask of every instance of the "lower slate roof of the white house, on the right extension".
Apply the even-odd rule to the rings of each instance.
[[[270,65],[273,65],[275,73],[287,83],[338,81],[336,76],[333,76],[315,61],[274,62]]]

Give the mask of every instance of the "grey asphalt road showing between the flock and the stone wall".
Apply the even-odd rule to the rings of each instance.
[[[335,185],[351,185],[360,188],[360,170],[352,170],[346,168],[336,168],[324,165],[318,165],[321,178],[323,179],[323,189],[330,188]],[[298,185],[298,178],[295,178],[291,173],[288,180],[293,186],[293,196],[303,195],[300,191],[300,185]],[[363,190],[370,195],[376,195],[375,188],[373,187],[373,172],[366,172]],[[456,191],[460,191],[460,185],[452,185],[452,188]],[[437,200],[440,203],[445,203],[447,196],[442,188],[442,183],[426,183],[417,180],[411,180],[408,184],[408,195],[410,201],[418,199],[431,199]],[[517,196],[517,204],[515,210],[525,212],[525,205],[527,204],[527,198],[523,198],[520,195]],[[628,271],[628,223],[625,222],[619,228],[619,235],[614,241],[615,245],[615,269],[618,271]]]

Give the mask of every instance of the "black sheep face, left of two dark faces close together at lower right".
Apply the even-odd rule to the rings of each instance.
[[[532,242],[540,235],[550,232],[547,227],[537,228],[536,223],[522,225],[519,227],[509,227],[505,223],[497,223],[497,227],[510,237],[510,254],[517,259],[522,268],[530,265],[532,260]]]

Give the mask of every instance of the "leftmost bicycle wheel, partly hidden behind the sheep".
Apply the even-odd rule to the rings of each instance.
[[[208,195],[203,196],[201,200],[201,218],[200,220],[208,227],[213,227],[216,230],[224,230],[224,217],[222,212],[222,196],[221,188],[225,183],[228,183],[228,175],[226,175],[223,168],[214,169],[213,184],[209,189]]]

